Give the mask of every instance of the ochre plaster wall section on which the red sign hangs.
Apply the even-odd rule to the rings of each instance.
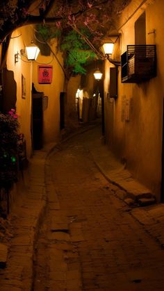
[[[56,53],[58,60],[63,65],[63,57],[60,51],[56,49],[57,42],[53,40],[52,49]],[[38,83],[38,65],[53,66],[53,80],[51,84]],[[33,63],[33,83],[35,89],[39,92],[44,92],[48,97],[48,107],[44,110],[44,129],[43,142],[49,143],[58,140],[60,135],[60,92],[64,91],[64,73],[56,58],[53,56],[41,56],[37,58],[37,63]]]

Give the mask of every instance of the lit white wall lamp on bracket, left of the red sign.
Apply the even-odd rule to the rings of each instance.
[[[35,44],[32,44],[30,47],[25,47],[25,49],[21,49],[20,54],[18,52],[15,53],[15,63],[18,62],[21,56],[25,56],[28,60],[36,60],[39,53],[40,49]]]

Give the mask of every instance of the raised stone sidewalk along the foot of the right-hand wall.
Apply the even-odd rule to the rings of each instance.
[[[154,193],[133,177],[126,169],[126,163],[117,160],[108,145],[104,143],[104,138],[100,137],[100,126],[86,132],[85,147],[90,150],[93,160],[106,179],[124,190],[117,192],[118,197],[126,201],[129,206],[155,203]],[[80,140],[83,142],[83,135],[79,135]]]

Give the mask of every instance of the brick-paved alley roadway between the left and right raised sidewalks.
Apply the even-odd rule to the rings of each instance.
[[[99,172],[88,149],[93,131],[47,161],[33,291],[162,291],[164,251]]]

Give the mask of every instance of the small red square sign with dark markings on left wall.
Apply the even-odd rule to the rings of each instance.
[[[38,83],[39,84],[52,83],[52,69],[53,69],[53,66],[49,66],[49,65],[38,66]]]

